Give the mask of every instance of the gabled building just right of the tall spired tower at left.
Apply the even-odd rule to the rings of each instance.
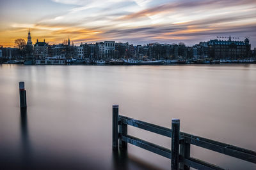
[[[36,59],[44,59],[45,57],[48,57],[48,44],[44,42],[38,42],[38,39],[36,39],[36,43],[34,45],[34,55]]]

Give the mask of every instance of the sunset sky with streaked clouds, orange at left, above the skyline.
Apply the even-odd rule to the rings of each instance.
[[[76,45],[122,41],[134,45],[195,45],[217,36],[250,38],[256,47],[255,0],[0,0],[0,45],[17,38]],[[224,38],[224,40],[227,38]],[[235,40],[237,40],[235,39]]]

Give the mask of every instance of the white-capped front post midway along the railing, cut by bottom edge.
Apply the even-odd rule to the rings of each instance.
[[[179,170],[179,138],[180,120],[177,118],[172,118],[172,170]]]

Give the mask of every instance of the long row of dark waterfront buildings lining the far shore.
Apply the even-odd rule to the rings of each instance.
[[[255,57],[256,49],[251,50],[248,38],[244,41],[232,41],[211,39],[207,42],[200,42],[197,45],[186,46],[179,44],[149,43],[137,45],[127,43],[116,43],[115,41],[104,41],[98,43],[81,43],[79,46],[67,44],[49,45],[44,41],[36,40],[35,45],[31,41],[30,31],[28,32],[26,56],[35,59],[55,57],[56,59],[249,59]],[[14,48],[12,49],[14,50]],[[9,51],[11,51],[9,49]],[[1,50],[1,55],[10,57],[12,52],[8,49]]]

